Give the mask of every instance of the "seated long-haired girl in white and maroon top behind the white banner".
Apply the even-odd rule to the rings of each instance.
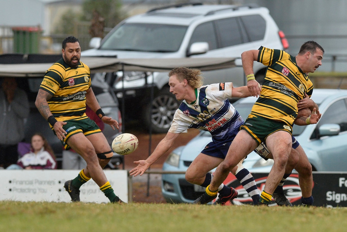
[[[24,169],[56,169],[57,162],[51,146],[40,134],[31,137],[31,151],[19,158],[17,165]],[[9,167],[8,169],[14,169]]]

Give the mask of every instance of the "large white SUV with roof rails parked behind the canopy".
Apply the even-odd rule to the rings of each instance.
[[[283,32],[267,8],[201,3],[171,5],[129,17],[103,40],[93,38],[90,45],[93,49],[83,51],[82,56],[239,58],[243,51],[258,49],[261,45],[288,48]],[[254,72],[261,80],[265,66],[255,63]],[[179,102],[169,92],[167,73],[116,72],[104,75],[120,103],[124,97],[126,118],[138,117],[146,126],[151,125],[155,133],[168,131]],[[203,76],[205,84],[234,82],[235,86],[242,86],[246,83],[241,66],[206,71]],[[154,98],[151,101],[152,86]]]

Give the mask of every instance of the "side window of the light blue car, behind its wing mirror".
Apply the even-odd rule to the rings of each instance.
[[[347,130],[347,99],[341,99],[334,102],[327,110],[325,110],[322,117],[319,119],[318,124],[311,139],[318,138],[319,127],[327,123],[339,124],[342,131]]]

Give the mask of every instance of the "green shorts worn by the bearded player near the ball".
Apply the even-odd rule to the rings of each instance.
[[[66,143],[66,141],[70,138],[71,135],[77,134],[77,133],[83,133],[85,136],[95,133],[100,133],[101,130],[96,123],[90,119],[90,118],[83,118],[83,119],[71,119],[66,120],[66,125],[63,125],[63,129],[66,131],[65,139],[61,141],[63,144],[65,150],[69,150],[70,146]],[[56,132],[53,130],[54,134]]]

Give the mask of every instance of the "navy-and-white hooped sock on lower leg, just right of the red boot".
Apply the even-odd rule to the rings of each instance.
[[[246,168],[243,168],[240,171],[237,169],[235,176],[248,192],[253,202],[257,204],[259,202],[260,194],[252,174],[249,173]]]

